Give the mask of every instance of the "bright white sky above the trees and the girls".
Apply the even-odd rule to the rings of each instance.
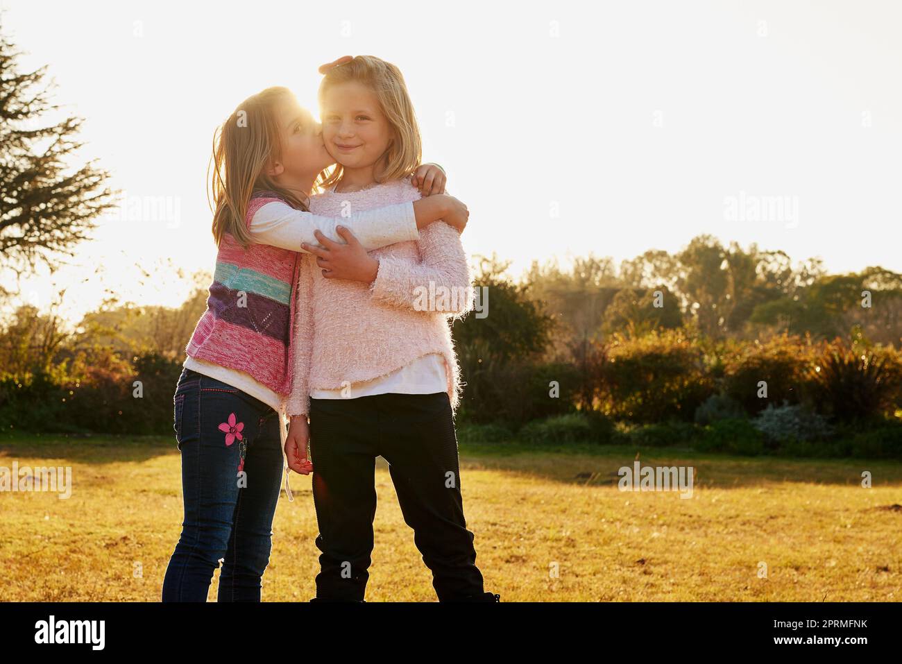
[[[179,304],[186,283],[159,266],[212,270],[214,127],[271,85],[316,115],[317,66],[345,54],[400,67],[424,158],[471,210],[467,250],[511,259],[514,276],[552,256],[674,252],[701,233],[832,272],[902,271],[892,0],[0,7],[23,65],[51,66],[57,101],[87,118],[86,156],[128,196],[54,277],[70,317],[104,288]],[[140,209],[153,200],[168,211]],[[26,281],[25,299],[46,307],[51,281]]]

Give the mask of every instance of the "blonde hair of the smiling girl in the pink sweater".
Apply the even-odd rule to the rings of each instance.
[[[322,110],[329,88],[357,81],[373,91],[382,114],[391,125],[394,136],[376,168],[377,182],[400,180],[416,171],[422,159],[417,116],[400,69],[374,55],[358,55],[354,60],[329,69],[319,84],[319,107]],[[338,163],[331,171],[320,174],[318,187],[323,189],[342,178],[344,167]]]

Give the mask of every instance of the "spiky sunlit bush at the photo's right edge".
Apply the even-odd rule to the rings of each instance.
[[[902,386],[902,361],[893,348],[854,350],[824,344],[811,372],[819,410],[839,421],[870,420],[891,412]]]

